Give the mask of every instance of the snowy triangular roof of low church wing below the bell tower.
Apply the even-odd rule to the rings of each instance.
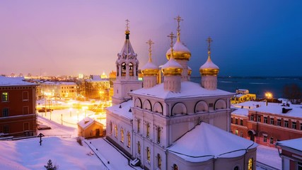
[[[120,115],[124,118],[132,120],[133,114],[132,112],[129,112],[131,106],[132,106],[132,100],[129,100],[117,104],[115,106],[108,107],[106,108],[106,110],[110,111],[111,113],[115,113],[116,115]]]

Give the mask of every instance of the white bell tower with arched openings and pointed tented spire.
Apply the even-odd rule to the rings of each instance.
[[[129,20],[126,20],[125,35],[124,45],[122,50],[117,53],[117,61],[115,62],[117,79],[113,82],[113,105],[129,100],[131,97],[128,93],[142,87],[142,82],[138,79],[139,60],[137,60],[137,53],[134,52],[129,40]]]

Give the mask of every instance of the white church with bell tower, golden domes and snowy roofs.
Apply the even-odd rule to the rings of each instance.
[[[115,105],[107,108],[106,138],[144,169],[255,169],[257,144],[230,133],[233,93],[217,89],[219,67],[208,57],[201,65],[200,84],[190,81],[190,50],[171,39],[168,62],[159,69],[149,61],[141,67],[143,86],[137,78],[139,62],[129,41],[129,27],[122,51],[117,54]],[[128,25],[128,21],[127,21]],[[163,83],[158,74],[163,72]]]

